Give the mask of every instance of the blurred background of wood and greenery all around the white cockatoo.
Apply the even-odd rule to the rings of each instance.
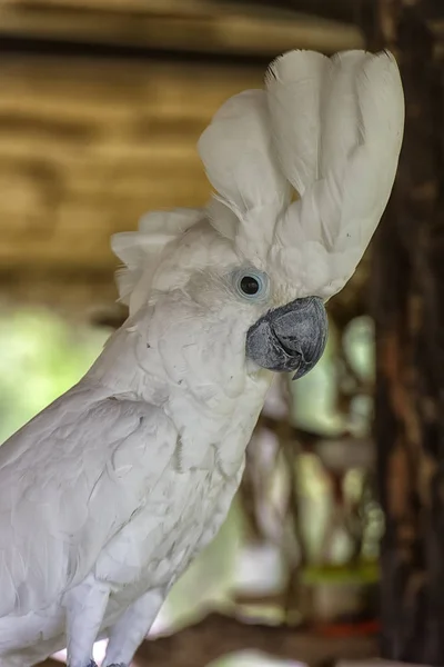
[[[205,203],[195,142],[229,96],[293,48],[389,47],[404,80],[398,178],[326,354],[274,385],[139,667],[444,663],[443,39],[442,0],[0,0],[0,441],[123,321],[110,235]]]

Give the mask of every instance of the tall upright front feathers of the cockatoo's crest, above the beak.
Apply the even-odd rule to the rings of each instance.
[[[316,100],[321,101],[319,108],[312,106],[315,122],[307,116],[305,102],[300,102],[306,82],[301,79],[299,91],[291,76],[292,67],[299,72],[311,59],[310,86],[313,90],[317,86]],[[301,251],[297,281],[307,256],[304,243],[321,243],[326,253],[322,251],[319,262],[329,268],[326,282],[309,280],[304,290],[329,298],[354,272],[387,203],[402,143],[404,98],[390,53],[352,51],[336,54],[327,66],[319,64],[317,53],[284,56],[274,66],[278,74],[269,79],[269,94],[284,171],[302,188],[301,200],[291,205],[276,227],[278,242]],[[285,100],[286,107],[279,107],[273,101],[276,98]],[[280,108],[285,108],[285,113]],[[296,156],[293,161],[284,146],[285,135]],[[306,160],[301,161],[301,155],[307,156]],[[321,276],[312,269],[305,271],[314,273]]]

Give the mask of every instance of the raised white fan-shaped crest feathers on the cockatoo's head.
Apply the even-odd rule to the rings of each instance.
[[[113,237],[127,266],[121,299],[143,302],[160,250],[205,217],[299,297],[329,299],[353,275],[385,209],[403,127],[390,53],[278,58],[264,89],[229,99],[199,140],[215,190],[206,209],[151,213],[139,232]]]

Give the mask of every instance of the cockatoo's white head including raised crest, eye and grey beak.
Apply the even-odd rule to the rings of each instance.
[[[112,240],[121,298],[151,308],[175,379],[191,366],[202,381],[215,365],[230,378],[315,366],[325,302],[386,206],[403,120],[394,59],[363,51],[293,51],[264,90],[222,106],[199,141],[209,206],[149,213]]]

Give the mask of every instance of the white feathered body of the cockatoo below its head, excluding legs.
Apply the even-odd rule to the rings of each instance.
[[[178,315],[174,296],[167,308]],[[110,588],[98,636],[149,591],[155,616],[240,484],[271,374],[253,378],[232,364],[226,375],[213,346],[194,362],[181,350],[174,359],[174,339],[162,337],[162,352],[149,342],[155,313],[135,319],[79,385],[0,447],[1,511],[12,517],[0,524],[4,667],[33,665],[67,645],[63,598],[85,579]],[[205,351],[216,362],[202,368]],[[155,372],[165,359],[172,377]],[[50,530],[39,535],[48,510]]]

